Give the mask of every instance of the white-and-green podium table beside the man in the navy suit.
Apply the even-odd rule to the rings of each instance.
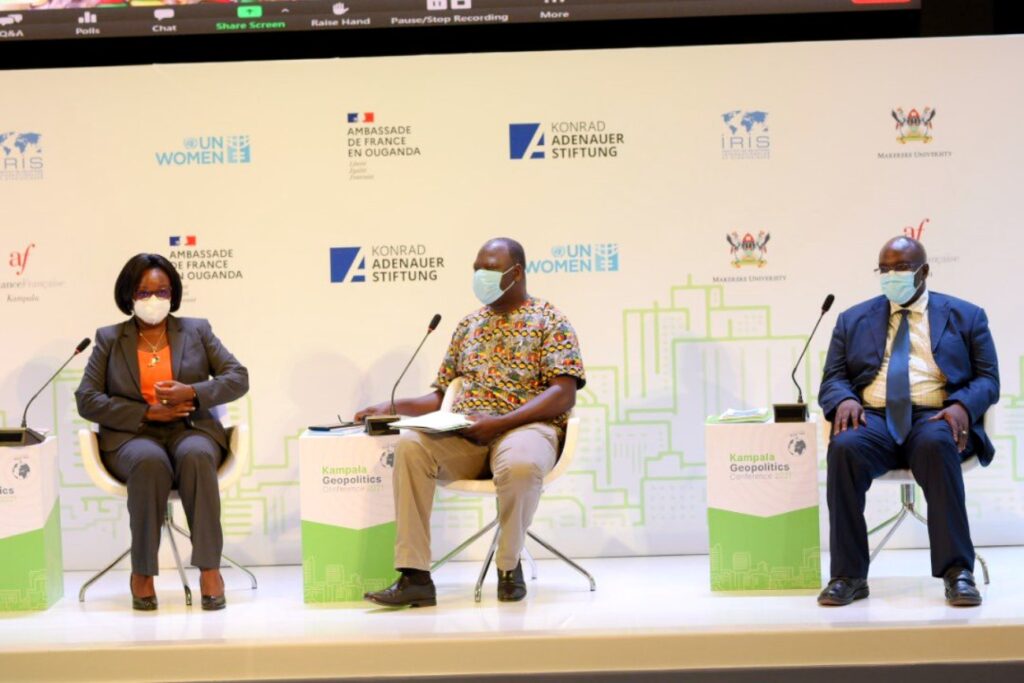
[[[816,422],[705,427],[713,591],[821,586]]]

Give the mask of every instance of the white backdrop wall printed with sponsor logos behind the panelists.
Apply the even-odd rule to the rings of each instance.
[[[122,318],[129,256],[170,254],[181,313],[209,317],[251,372],[231,410],[254,464],[225,496],[227,550],[297,562],[297,434],[383,399],[440,312],[400,390],[426,391],[475,305],[477,248],[508,234],[589,373],[578,461],[539,531],[580,556],[706,552],[705,416],[792,400],[824,295],[837,311],[876,295],[879,248],[908,230],[933,289],[989,313],[997,455],[969,504],[979,545],[1022,543],[1022,60],[1024,39],[1000,37],[0,73],[0,418]],[[930,128],[892,115],[926,108]],[[766,251],[735,265],[733,232],[766,233]],[[382,282],[375,254],[398,246],[434,261]],[[835,316],[799,375],[812,399]],[[128,542],[123,502],[79,463],[83,360],[30,413],[60,438],[72,568]],[[897,500],[877,488],[871,519]],[[435,550],[492,512],[447,496],[435,510]]]

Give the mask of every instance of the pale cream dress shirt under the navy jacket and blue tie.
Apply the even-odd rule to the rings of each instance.
[[[864,387],[864,405],[886,407],[886,375],[889,372],[889,355],[892,353],[893,339],[899,328],[898,311],[907,308],[907,325],[910,332],[910,402],[926,408],[942,408],[946,399],[946,376],[942,374],[932,356],[932,335],[928,324],[928,290],[909,306],[889,302],[889,336],[882,367],[874,381]]]

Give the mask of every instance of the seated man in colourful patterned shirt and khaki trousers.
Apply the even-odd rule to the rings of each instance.
[[[430,579],[430,509],[436,481],[488,474],[498,489],[501,525],[495,561],[498,599],[509,602],[526,596],[519,554],[586,376],[568,319],[526,293],[526,258],[518,242],[490,240],[476,255],[473,270],[473,292],[483,308],[459,323],[434,390],[395,401],[401,415],[436,411],[449,384],[462,377],[453,411],[473,424],[455,434],[402,432],[394,463],[394,559],[401,577],[383,591],[366,594],[377,604],[436,604]],[[378,403],[356,413],[355,419],[389,412],[388,402]]]

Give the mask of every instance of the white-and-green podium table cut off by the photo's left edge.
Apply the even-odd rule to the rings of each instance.
[[[57,439],[0,449],[0,611],[63,596]]]

